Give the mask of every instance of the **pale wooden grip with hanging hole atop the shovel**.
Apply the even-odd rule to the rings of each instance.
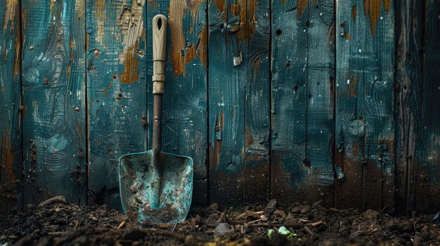
[[[167,43],[167,18],[153,18],[153,94],[164,94],[165,44]]]

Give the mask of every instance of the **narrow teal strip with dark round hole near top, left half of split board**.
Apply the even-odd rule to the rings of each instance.
[[[308,196],[308,1],[273,1],[271,198]]]

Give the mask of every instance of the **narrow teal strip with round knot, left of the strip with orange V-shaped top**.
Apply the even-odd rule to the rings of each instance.
[[[365,158],[363,49],[369,34],[361,1],[339,1],[336,8],[335,207],[361,207]]]

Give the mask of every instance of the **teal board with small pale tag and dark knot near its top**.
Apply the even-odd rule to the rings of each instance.
[[[210,1],[208,16],[209,203],[240,203],[249,47],[245,3]]]

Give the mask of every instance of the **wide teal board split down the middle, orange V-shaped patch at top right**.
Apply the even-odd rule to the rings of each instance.
[[[337,207],[394,206],[393,20],[389,1],[337,6]]]

